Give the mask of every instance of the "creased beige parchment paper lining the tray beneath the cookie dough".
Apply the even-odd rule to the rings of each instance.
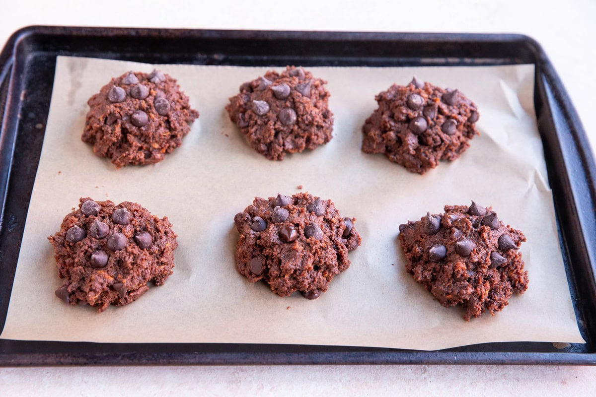
[[[483,342],[583,343],[557,239],[533,109],[532,65],[501,67],[313,67],[328,80],[333,139],[315,151],[266,160],[224,110],[244,81],[268,68],[163,65],[200,111],[181,148],[156,165],[116,170],[80,135],[87,99],[113,76],[153,65],[58,57],[44,147],[33,188],[3,338],[91,342],[299,343],[442,349]],[[281,70],[281,68],[279,68]],[[424,176],[361,152],[374,96],[412,75],[457,87],[480,110],[481,135],[454,162]],[[362,246],[315,301],[280,298],[237,273],[234,215],[254,196],[302,185],[356,217]],[[98,314],[65,305],[46,239],[80,196],[136,201],[167,215],[178,234],[174,273],[138,301]],[[443,308],[404,269],[399,224],[445,204],[492,205],[522,230],[529,289],[495,316],[469,322]]]

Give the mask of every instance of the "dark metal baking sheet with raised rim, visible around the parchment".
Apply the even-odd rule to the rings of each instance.
[[[421,66],[535,64],[535,107],[573,305],[587,341],[485,343],[441,351],[213,343],[0,339],[0,365],[596,364],[596,167],[550,61],[520,35],[255,32],[33,26],[0,54],[0,327],[38,166],[57,55],[149,63]],[[1,329],[1,328],[0,328]]]

